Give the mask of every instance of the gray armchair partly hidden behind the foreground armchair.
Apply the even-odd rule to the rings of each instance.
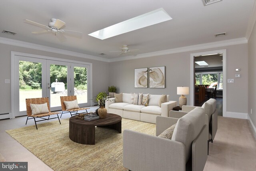
[[[170,111],[169,117],[179,118],[186,115],[188,112],[193,110],[196,106],[183,105],[182,111]],[[218,109],[216,109],[216,99],[209,99],[206,101],[202,108],[205,109],[207,119],[205,124],[208,125],[209,137],[208,137],[208,154],[209,154],[209,142],[213,142],[218,129]]]

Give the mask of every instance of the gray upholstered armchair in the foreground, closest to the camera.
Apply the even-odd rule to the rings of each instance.
[[[156,135],[176,124],[172,139],[136,131],[123,132],[123,166],[131,171],[203,171],[208,129],[202,107],[180,119],[156,117]]]

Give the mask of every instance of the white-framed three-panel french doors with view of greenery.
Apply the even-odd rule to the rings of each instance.
[[[90,106],[90,65],[15,56],[14,116],[26,115],[26,99],[49,97],[51,111],[61,110],[60,96],[76,95]]]

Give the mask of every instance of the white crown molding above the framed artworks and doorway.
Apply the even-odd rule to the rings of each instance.
[[[121,58],[112,58],[109,60],[109,62],[134,60],[134,59],[147,58],[147,57],[152,57],[152,56],[176,54],[176,53],[180,53],[180,52],[188,52],[188,51],[202,50],[202,49],[208,49],[208,48],[218,48],[218,47],[222,47],[222,46],[231,46],[231,45],[246,44],[246,43],[248,43],[248,40],[246,38],[238,38],[238,39],[224,40],[224,41],[212,42],[212,43],[206,43],[206,44],[198,44],[198,45],[193,45],[193,46],[185,46],[185,47],[181,47],[181,48],[161,50],[161,51],[157,51],[157,52],[139,54],[136,56],[125,56],[125,57],[121,57]]]

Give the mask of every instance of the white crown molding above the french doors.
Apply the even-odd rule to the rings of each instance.
[[[101,58],[101,57],[98,57],[98,56],[92,56],[92,55],[82,54],[82,53],[78,53],[78,52],[72,52],[72,51],[58,49],[58,48],[52,48],[52,47],[49,47],[49,46],[32,44],[32,43],[23,42],[23,41],[20,41],[20,40],[13,40],[13,39],[8,39],[8,38],[3,38],[3,37],[0,37],[0,43],[13,45],[13,46],[19,46],[19,47],[23,47],[23,48],[42,50],[42,51],[52,52],[52,53],[56,53],[56,54],[76,56],[76,57],[86,58],[86,59],[90,59],[90,60],[98,60],[98,61],[103,61],[103,62],[109,62],[108,59]]]

